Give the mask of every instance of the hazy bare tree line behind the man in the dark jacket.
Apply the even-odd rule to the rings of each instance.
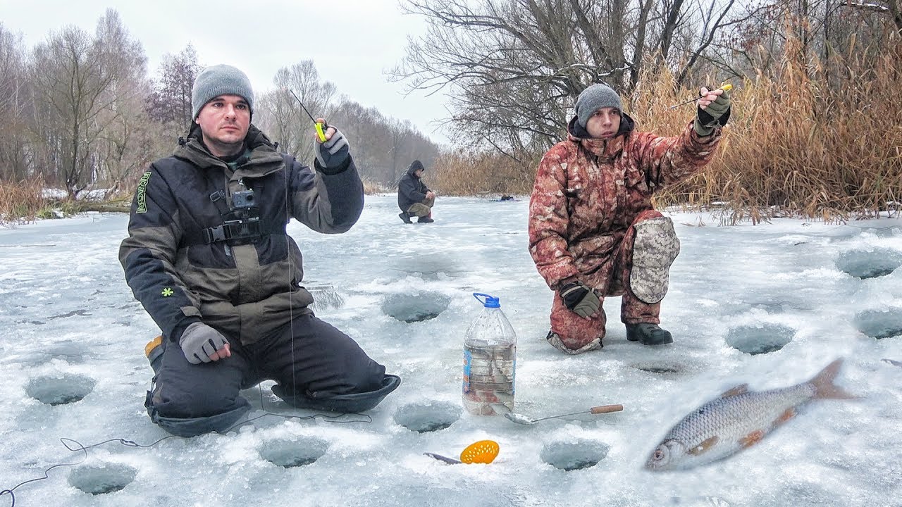
[[[143,45],[108,9],[94,33],[75,26],[26,48],[0,23],[0,181],[41,180],[77,198],[86,189],[128,192],[144,168],[169,155],[191,124],[191,87],[204,65],[189,44],[150,76]],[[410,122],[341,96],[312,61],[280,69],[255,97],[253,123],[280,151],[312,161],[311,111],[338,125],[364,180],[391,188],[410,161],[439,148]]]

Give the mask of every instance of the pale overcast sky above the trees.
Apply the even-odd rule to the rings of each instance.
[[[399,0],[0,0],[0,23],[32,48],[68,24],[94,33],[107,8],[143,43],[152,76],[164,54],[189,42],[202,64],[243,69],[258,93],[273,88],[278,69],[313,60],[339,93],[446,143],[437,131],[447,115],[444,97],[404,97],[405,84],[384,74],[403,58],[408,35],[426,31],[422,18],[401,13]]]

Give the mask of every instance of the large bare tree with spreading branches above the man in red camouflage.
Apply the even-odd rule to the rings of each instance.
[[[563,137],[566,110],[588,85],[629,95],[652,54],[658,65],[688,61],[686,78],[733,1],[687,11],[683,0],[408,0],[428,32],[409,41],[392,77],[443,90],[458,140],[526,162]]]

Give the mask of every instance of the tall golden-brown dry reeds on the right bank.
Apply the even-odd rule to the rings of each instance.
[[[701,174],[659,194],[658,205],[726,202],[730,223],[774,216],[842,221],[896,208],[902,198],[902,107],[895,90],[902,49],[886,51],[870,68],[849,55],[843,86],[833,87],[824,67],[805,61],[799,49],[788,41],[779,80],[759,75],[734,83],[720,153]],[[671,89],[666,80],[662,74],[644,88]],[[674,134],[692,108],[667,113],[661,100],[639,97],[637,106],[648,113],[640,118]]]

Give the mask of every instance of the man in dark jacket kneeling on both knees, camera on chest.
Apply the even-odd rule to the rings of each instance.
[[[239,390],[266,379],[296,407],[369,410],[400,379],[313,315],[286,234],[291,217],[326,234],[360,217],[363,184],[344,135],[327,129],[316,171],[276,152],[251,124],[250,81],[228,65],[198,74],[191,102],[188,139],[144,172],[119,250],[162,330],[149,354],[152,421],[181,436],[229,429],[250,410]]]

